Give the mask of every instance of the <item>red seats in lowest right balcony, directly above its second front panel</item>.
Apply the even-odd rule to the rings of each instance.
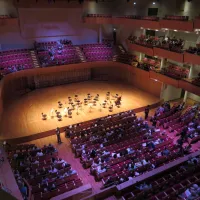
[[[175,79],[182,79],[188,77],[189,69],[171,64],[168,67],[163,68],[161,73]]]

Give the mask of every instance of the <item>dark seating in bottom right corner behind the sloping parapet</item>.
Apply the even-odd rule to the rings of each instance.
[[[200,195],[200,158],[194,157],[124,192],[123,200],[197,199]],[[193,191],[193,192],[192,192]]]

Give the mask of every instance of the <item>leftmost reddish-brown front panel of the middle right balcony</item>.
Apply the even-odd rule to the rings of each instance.
[[[153,48],[149,48],[149,47],[145,47],[145,46],[142,46],[142,45],[130,43],[129,40],[127,40],[127,45],[128,45],[129,50],[137,51],[137,52],[146,54],[148,56],[154,55]]]

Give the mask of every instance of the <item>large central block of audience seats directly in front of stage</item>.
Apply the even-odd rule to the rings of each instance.
[[[154,128],[136,118],[133,111],[104,117],[92,123],[68,127],[72,150],[84,168],[90,167],[96,181],[104,187],[179,157],[171,139],[154,133]],[[168,150],[168,155],[162,154]]]

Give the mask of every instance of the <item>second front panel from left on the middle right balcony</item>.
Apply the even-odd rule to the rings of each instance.
[[[177,53],[177,52],[173,52],[173,51],[169,51],[167,49],[161,49],[161,48],[157,48],[154,47],[154,55],[155,56],[159,56],[162,58],[167,58],[170,60],[174,60],[180,63],[183,63],[184,59],[183,59],[183,53]]]

